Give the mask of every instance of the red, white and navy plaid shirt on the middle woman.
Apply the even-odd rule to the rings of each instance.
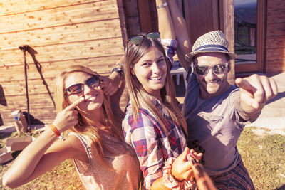
[[[140,108],[135,121],[132,105],[129,104],[122,123],[125,142],[135,149],[147,189],[150,189],[156,179],[162,177],[165,161],[169,157],[177,157],[186,147],[185,135],[181,128],[172,121],[158,100],[152,102],[167,120],[167,134],[147,108]]]

